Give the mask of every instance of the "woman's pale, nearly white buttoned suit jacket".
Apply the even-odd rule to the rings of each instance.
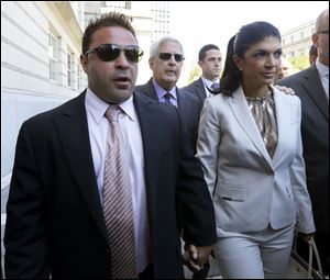
[[[300,100],[274,89],[278,143],[270,157],[240,87],[205,101],[197,157],[213,199],[217,227],[315,232],[300,136]]]

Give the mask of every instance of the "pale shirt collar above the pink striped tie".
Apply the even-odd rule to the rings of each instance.
[[[87,88],[85,104],[87,110],[92,115],[95,122],[99,124],[109,108],[109,103],[101,100],[90,88]],[[135,120],[135,110],[133,103],[133,96],[119,104],[120,109],[132,120]]]

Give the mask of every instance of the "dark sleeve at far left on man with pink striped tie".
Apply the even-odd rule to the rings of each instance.
[[[4,271],[11,279],[50,278],[51,270],[43,186],[31,135],[24,123],[18,137],[7,203]]]

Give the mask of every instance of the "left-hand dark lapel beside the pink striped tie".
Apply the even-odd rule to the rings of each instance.
[[[85,92],[54,119],[74,180],[98,228],[108,240],[89,143]]]

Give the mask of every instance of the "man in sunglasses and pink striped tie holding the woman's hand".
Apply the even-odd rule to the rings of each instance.
[[[113,271],[184,278],[176,204],[189,245],[185,262],[199,268],[207,260],[217,238],[212,202],[175,108],[133,94],[142,54],[125,15],[101,15],[82,37],[87,90],[23,123],[7,205],[7,278],[111,279]],[[119,116],[108,121],[105,114],[113,108]],[[128,180],[106,178],[107,157],[123,156],[119,146],[125,150]],[[117,173],[121,166],[112,169]],[[119,215],[128,200],[106,203],[106,180],[110,191],[129,181],[132,211]],[[109,228],[108,219],[123,226],[128,216],[134,231],[113,247],[118,228]],[[127,246],[131,235],[135,244]],[[123,259],[129,251],[136,257],[129,266],[114,257],[118,250]]]

